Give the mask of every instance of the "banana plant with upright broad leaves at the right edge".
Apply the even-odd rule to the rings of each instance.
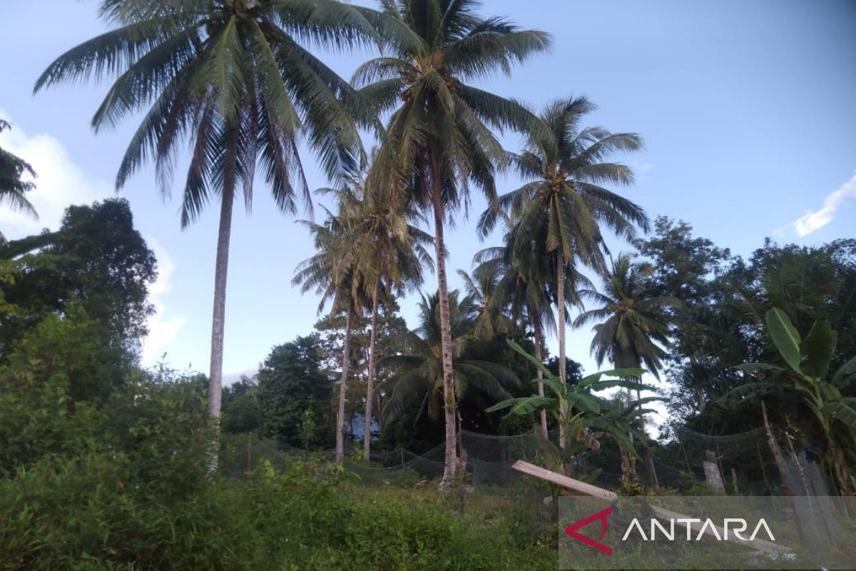
[[[816,321],[804,339],[788,315],[777,307],[766,314],[767,330],[787,366],[770,363],[744,363],[736,369],[758,374],[764,380],[743,384],[722,396],[723,402],[758,400],[766,395],[796,397],[801,407],[826,440],[825,461],[832,467],[842,495],[853,495],[853,483],[847,470],[841,438],[853,443],[856,438],[856,397],[843,396],[856,384],[856,357],[847,360],[829,374],[838,334],[829,324]]]

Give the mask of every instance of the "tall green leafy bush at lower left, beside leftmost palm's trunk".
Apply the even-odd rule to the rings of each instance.
[[[204,395],[131,368],[87,376],[94,326],[46,318],[0,367],[0,568],[205,568],[220,512]]]

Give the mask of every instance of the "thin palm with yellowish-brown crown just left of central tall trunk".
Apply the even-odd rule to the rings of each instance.
[[[366,430],[363,455],[368,460],[372,442],[372,404],[377,368],[377,316],[383,294],[405,294],[422,283],[422,268],[433,266],[428,247],[433,237],[414,223],[425,217],[413,203],[395,199],[394,193],[381,188],[366,188],[360,183],[359,193],[342,204],[349,219],[343,243],[349,248],[348,259],[365,277],[371,291],[372,324],[369,335],[368,372],[366,375]]]

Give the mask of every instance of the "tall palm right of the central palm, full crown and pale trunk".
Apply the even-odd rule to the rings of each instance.
[[[612,134],[599,127],[580,128],[595,109],[586,98],[557,99],[541,114],[543,129],[533,130],[526,148],[513,163],[526,183],[499,199],[500,209],[488,209],[479,220],[487,235],[509,211],[514,223],[508,247],[513,258],[541,252],[555,269],[558,310],[559,378],[567,380],[565,350],[565,283],[576,261],[602,271],[603,223],[617,235],[633,237],[633,224],[650,223],[639,205],[602,187],[633,181],[629,167],[603,162],[617,151],[635,151],[642,145],[636,134]],[[534,249],[533,249],[534,248]]]

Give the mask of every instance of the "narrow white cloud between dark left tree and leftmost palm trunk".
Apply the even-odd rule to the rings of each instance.
[[[155,307],[155,312],[147,322],[149,334],[143,340],[142,357],[144,363],[154,364],[161,360],[163,353],[175,341],[175,337],[187,323],[187,319],[184,317],[167,318],[165,316],[166,305],[163,303],[163,297],[172,288],[172,272],[175,271],[175,262],[154,237],[146,236],[146,243],[158,258],[158,279],[149,288],[149,300]]]

